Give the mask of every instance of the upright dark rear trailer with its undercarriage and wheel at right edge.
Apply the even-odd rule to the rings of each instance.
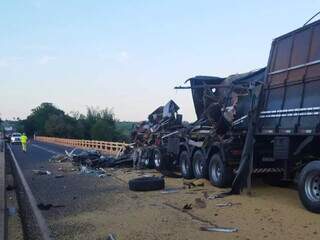
[[[304,206],[320,212],[320,21],[273,41],[255,139],[255,167],[297,179]]]

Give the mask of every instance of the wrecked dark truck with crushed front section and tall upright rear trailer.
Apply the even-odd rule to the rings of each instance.
[[[250,187],[252,174],[296,182],[304,207],[320,213],[319,43],[320,21],[273,40],[267,68],[260,70],[262,82],[250,83],[247,96],[236,104],[215,98],[224,91],[224,79],[201,87],[202,91],[191,79],[198,118],[207,115],[213,124],[205,125],[211,132],[205,133],[204,141],[199,144],[191,136],[185,153],[180,153],[182,174],[186,178],[208,174],[216,186],[232,183],[234,194]],[[216,104],[206,107],[201,97],[206,91]],[[232,99],[232,92],[221,94],[222,99]],[[236,111],[230,115],[233,107]]]

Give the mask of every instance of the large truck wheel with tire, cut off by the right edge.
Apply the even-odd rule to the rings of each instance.
[[[320,161],[310,162],[302,169],[298,191],[303,206],[311,212],[320,213]]]

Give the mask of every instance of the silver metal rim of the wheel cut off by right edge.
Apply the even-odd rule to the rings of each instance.
[[[308,174],[305,181],[305,192],[308,197],[313,202],[320,201],[320,173],[312,172]]]

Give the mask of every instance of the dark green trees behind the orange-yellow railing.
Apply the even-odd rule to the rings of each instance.
[[[90,107],[86,114],[78,112],[66,114],[52,103],[42,103],[32,109],[31,114],[25,120],[21,120],[18,125],[29,136],[36,134],[61,138],[127,142],[130,140],[133,124],[132,122],[118,121],[108,108],[99,110]]]

